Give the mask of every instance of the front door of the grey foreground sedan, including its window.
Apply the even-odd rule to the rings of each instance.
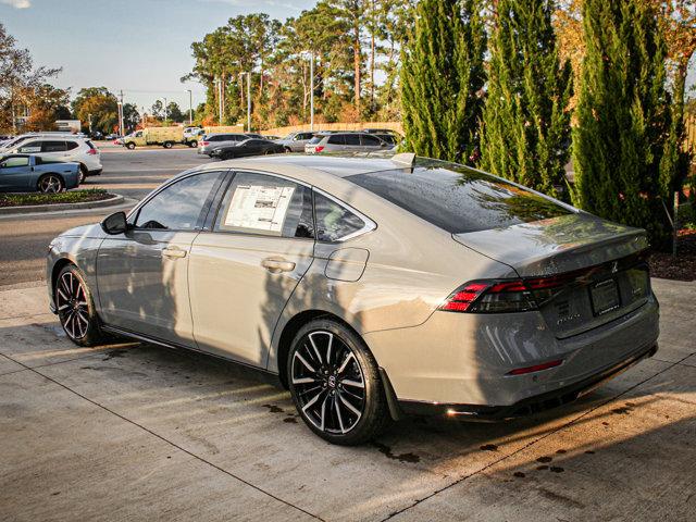
[[[189,251],[224,172],[199,172],[166,185],[107,236],[97,257],[104,322],[169,343],[194,346],[188,302]]]

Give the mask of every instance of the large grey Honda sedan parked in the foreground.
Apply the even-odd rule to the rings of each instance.
[[[104,333],[277,375],[336,444],[389,417],[508,419],[657,349],[645,231],[461,165],[259,157],[167,181],[50,245],[48,295]]]

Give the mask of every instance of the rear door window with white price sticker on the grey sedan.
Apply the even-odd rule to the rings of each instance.
[[[266,174],[235,174],[213,231],[314,237],[311,189]]]

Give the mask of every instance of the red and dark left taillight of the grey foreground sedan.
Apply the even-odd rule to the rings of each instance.
[[[469,313],[526,312],[536,310],[576,274],[529,279],[473,281],[460,286],[439,310]]]

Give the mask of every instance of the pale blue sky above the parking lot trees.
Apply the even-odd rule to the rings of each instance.
[[[123,89],[147,111],[157,99],[188,110],[204,101],[198,83],[181,83],[194,60],[190,45],[229,17],[265,12],[285,20],[315,0],[0,0],[0,23],[29,49],[35,66],[63,67],[51,83]]]

